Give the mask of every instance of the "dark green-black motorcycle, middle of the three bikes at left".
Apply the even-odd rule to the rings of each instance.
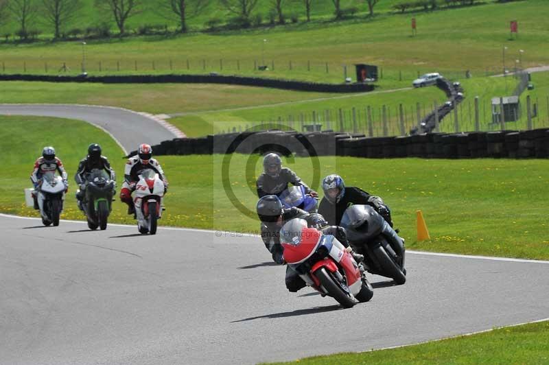
[[[92,169],[86,178],[82,210],[88,220],[90,229],[107,228],[108,215],[112,211],[115,181],[104,169]]]

